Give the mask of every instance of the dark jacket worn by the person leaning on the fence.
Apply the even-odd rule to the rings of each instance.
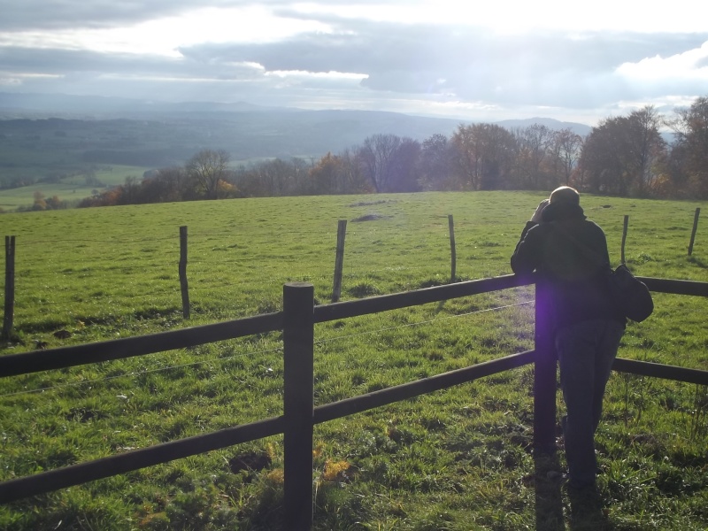
[[[542,222],[529,221],[512,255],[512,271],[538,273],[554,328],[590,319],[625,322],[610,299],[610,256],[603,229],[577,204],[552,203]]]

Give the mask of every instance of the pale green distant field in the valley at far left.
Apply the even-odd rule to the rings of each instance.
[[[19,206],[31,206],[35,202],[35,192],[40,191],[45,197],[58,196],[62,201],[78,202],[93,195],[94,190],[102,191],[104,186],[123,184],[126,177],[142,180],[142,174],[149,168],[127,165],[101,165],[90,174],[99,184],[87,184],[87,173],[77,173],[65,177],[57,183],[39,182],[32,186],[0,190],[0,208],[6,211]]]

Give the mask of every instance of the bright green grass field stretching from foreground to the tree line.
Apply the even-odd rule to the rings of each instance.
[[[521,192],[240,199],[0,216],[17,236],[15,329],[0,353],[142,335],[281,309],[282,284],[329,302],[337,220],[347,219],[342,298],[511,273],[542,198]],[[583,197],[619,262],[708,281],[696,207]],[[181,318],[179,227],[189,227],[192,319]],[[656,295],[620,356],[708,369],[708,301]],[[533,289],[319,325],[315,400],[327,404],[527,350]],[[65,330],[69,337],[54,333]],[[0,380],[0,479],[281,414],[277,335]],[[317,427],[316,529],[708,527],[704,389],[615,374],[598,433],[603,521],[536,477],[530,367]],[[558,414],[563,411],[558,396]],[[563,466],[563,454],[559,454]],[[238,470],[248,461],[251,469]],[[0,507],[7,529],[281,528],[279,437]],[[548,495],[548,496],[547,496]],[[552,495],[552,496],[551,496]],[[539,510],[541,508],[542,510]]]

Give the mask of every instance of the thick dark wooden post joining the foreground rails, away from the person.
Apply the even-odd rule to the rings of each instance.
[[[312,529],[314,293],[305,282],[283,286],[283,504],[286,527],[293,531]]]

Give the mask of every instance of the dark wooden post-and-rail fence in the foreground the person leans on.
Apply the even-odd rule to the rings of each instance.
[[[708,296],[708,282],[642,278],[654,292]],[[112,359],[131,358],[155,352],[183,349],[247,335],[282,331],[284,349],[284,407],[280,417],[261,419],[206,435],[196,435],[140,450],[65,466],[0,483],[0,503],[64,489],[87,481],[127,473],[146,466],[167,463],[239,443],[272,435],[284,435],[284,511],[289,528],[312,528],[312,432],[316,424],[393,404],[408,398],[474,381],[509,369],[535,364],[534,446],[548,452],[555,445],[556,360],[543,314],[536,311],[535,349],[381,389],[366,395],[314,407],[314,326],[335,319],[386,312],[413,305],[445,301],[502,289],[531,285],[535,277],[504,275],[480,281],[466,281],[385,296],[373,296],[333,304],[314,304],[311,284],[290,283],[283,288],[282,312],[236,319],[201,327],[144,335],[107,342],[89,343],[53,350],[37,350],[0,357],[0,377],[80,366]],[[537,290],[538,291],[538,290]],[[543,294],[536,293],[536,300]],[[536,304],[538,309],[541,304]],[[655,376],[674,381],[708,385],[708,371],[664,366],[618,358],[614,369],[625,373]]]

